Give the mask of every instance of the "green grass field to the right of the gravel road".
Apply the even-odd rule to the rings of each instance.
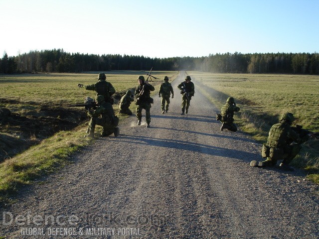
[[[271,125],[284,112],[294,114],[294,124],[319,131],[319,76],[188,73],[201,83],[201,91],[219,109],[227,97],[234,97],[241,109],[235,113],[235,123],[260,143],[267,140]],[[318,160],[318,139],[311,139],[303,144],[292,164],[318,173]],[[319,184],[316,173],[309,177]]]

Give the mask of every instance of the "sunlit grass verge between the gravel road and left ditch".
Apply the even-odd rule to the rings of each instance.
[[[10,195],[21,185],[70,163],[69,156],[87,145],[85,128],[60,131],[15,157],[0,163],[0,195]]]

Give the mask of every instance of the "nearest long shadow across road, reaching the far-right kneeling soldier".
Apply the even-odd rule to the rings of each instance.
[[[178,139],[162,139],[155,137],[146,137],[146,136],[132,136],[122,134],[121,139],[115,139],[112,141],[119,141],[121,143],[134,143],[134,144],[142,144],[148,146],[156,146],[163,148],[173,148],[176,150],[186,150],[199,152],[208,155],[220,156],[220,157],[229,157],[229,158],[237,158],[243,161],[249,160],[257,160],[260,158],[260,155],[257,153],[244,152],[236,149],[228,149],[222,148],[212,145],[207,145],[203,143],[195,143]]]

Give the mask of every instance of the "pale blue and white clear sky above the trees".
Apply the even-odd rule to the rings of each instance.
[[[0,0],[0,58],[319,52],[319,0]]]

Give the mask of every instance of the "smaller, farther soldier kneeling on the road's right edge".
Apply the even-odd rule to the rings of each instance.
[[[222,125],[220,130],[223,131],[224,128],[227,128],[230,131],[236,132],[237,127],[234,124],[234,112],[239,112],[240,108],[236,106],[234,98],[228,97],[227,102],[221,108],[221,119]]]

